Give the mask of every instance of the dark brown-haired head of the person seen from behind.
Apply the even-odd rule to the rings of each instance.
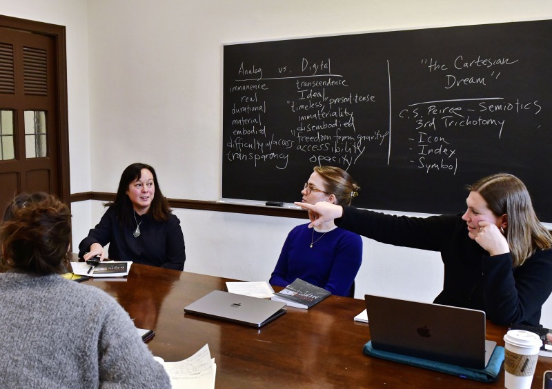
[[[71,213],[46,193],[19,194],[0,226],[2,265],[37,275],[63,272],[68,265]]]

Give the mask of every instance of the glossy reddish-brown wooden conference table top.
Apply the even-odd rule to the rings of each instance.
[[[139,328],[155,330],[148,343],[165,361],[181,361],[208,343],[217,363],[217,388],[504,388],[362,354],[370,327],[353,321],[364,301],[331,296],[310,310],[288,308],[262,328],[184,314],[184,306],[229,279],[133,263],[126,281],[90,279],[115,297]],[[487,338],[504,346],[506,328],[487,321]],[[539,357],[532,388],[552,359]]]

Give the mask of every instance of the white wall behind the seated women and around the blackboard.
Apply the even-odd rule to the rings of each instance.
[[[122,170],[155,166],[168,197],[221,193],[221,44],[428,26],[552,19],[549,0],[0,0],[0,13],[67,26],[71,192],[115,192]],[[88,40],[87,40],[88,39]],[[308,172],[306,172],[308,174]],[[355,177],[364,188],[369,181]],[[459,204],[460,209],[463,204]],[[74,241],[101,204],[72,205]],[[268,279],[299,219],[176,210],[186,270]],[[364,292],[431,301],[435,253],[368,239]],[[552,327],[552,300],[542,323]]]

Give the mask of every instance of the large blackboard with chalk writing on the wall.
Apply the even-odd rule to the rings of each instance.
[[[317,164],[353,205],[456,213],[520,177],[552,221],[552,21],[224,45],[222,197],[300,201]]]

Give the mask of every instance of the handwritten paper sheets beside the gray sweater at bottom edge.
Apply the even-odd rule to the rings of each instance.
[[[163,366],[172,388],[215,388],[217,365],[208,344],[184,361],[165,362]]]

